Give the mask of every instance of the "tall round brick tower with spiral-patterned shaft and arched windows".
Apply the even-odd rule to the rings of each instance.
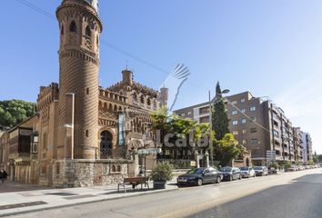
[[[95,159],[98,148],[98,0],[63,0],[57,159]]]

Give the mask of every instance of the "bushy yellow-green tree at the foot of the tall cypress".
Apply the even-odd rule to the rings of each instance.
[[[244,147],[237,144],[233,134],[225,134],[220,139],[215,139],[214,157],[222,166],[231,165],[233,159],[244,152]]]

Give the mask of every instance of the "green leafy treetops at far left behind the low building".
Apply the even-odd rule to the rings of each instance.
[[[0,101],[0,125],[13,127],[35,114],[35,104],[21,100]]]

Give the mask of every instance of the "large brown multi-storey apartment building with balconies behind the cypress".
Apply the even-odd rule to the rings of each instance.
[[[253,164],[303,162],[300,129],[293,127],[285,112],[276,104],[244,92],[227,96],[226,109],[229,130],[239,144],[252,152]],[[198,123],[209,122],[208,103],[179,109],[175,113]]]

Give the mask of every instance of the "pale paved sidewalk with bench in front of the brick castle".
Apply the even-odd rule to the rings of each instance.
[[[126,193],[122,188],[120,188],[120,193],[117,193],[117,185],[53,189],[23,183],[0,183],[0,216],[178,189],[176,180],[168,182],[164,190],[153,190],[153,183],[149,183],[149,186],[150,190],[144,186],[141,190],[140,185],[132,190],[132,187],[128,185]]]

